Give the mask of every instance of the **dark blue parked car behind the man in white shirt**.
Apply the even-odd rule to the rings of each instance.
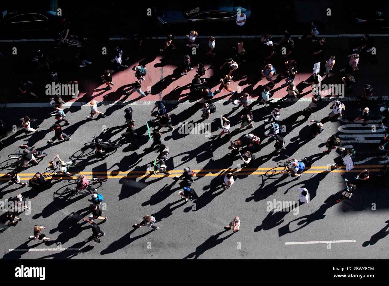
[[[236,21],[238,9],[249,18],[251,0],[185,1],[180,5],[165,4],[155,9],[158,23],[207,23],[212,21]]]

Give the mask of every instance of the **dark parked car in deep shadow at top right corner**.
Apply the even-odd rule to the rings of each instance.
[[[389,26],[389,5],[384,2],[354,5],[351,12],[358,23],[380,27]]]

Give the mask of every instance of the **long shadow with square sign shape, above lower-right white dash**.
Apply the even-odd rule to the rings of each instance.
[[[308,189],[309,192],[309,189]],[[336,198],[338,196],[336,194],[330,195],[325,201],[324,204],[322,204],[319,209],[317,209],[315,212],[312,212],[312,214],[307,214],[305,216],[301,216],[299,218],[293,219],[292,221],[289,221],[289,223],[285,226],[282,226],[278,229],[279,237],[282,235],[286,235],[287,233],[293,233],[298,230],[301,230],[305,226],[309,225],[310,223],[313,223],[314,221],[318,221],[320,219],[324,219],[326,217],[325,213],[326,211],[336,205]],[[300,206],[301,207],[301,206]],[[295,230],[289,230],[289,226],[293,221],[299,221],[297,224],[300,225],[300,227],[296,228]]]

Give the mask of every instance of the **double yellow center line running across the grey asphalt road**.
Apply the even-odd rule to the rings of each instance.
[[[382,168],[383,165],[359,165],[354,166],[354,169],[350,170],[349,172],[361,172],[364,169],[369,169],[371,172],[378,172],[380,168]],[[286,171],[286,167],[264,167],[264,168],[227,168],[227,169],[210,169],[210,170],[192,170],[195,173],[195,177],[205,177],[205,176],[221,176],[226,175],[228,172],[232,172],[234,175],[277,175],[282,174]],[[156,173],[154,175],[153,171],[128,171],[128,172],[122,172],[122,171],[112,171],[112,172],[80,172],[79,175],[86,175],[87,178],[91,178],[93,176],[97,176],[102,179],[121,179],[121,178],[144,178],[144,177],[174,177],[175,175],[182,174],[182,170],[170,170],[168,171],[170,175],[165,175],[161,173]],[[173,174],[172,174],[173,173]],[[328,166],[312,166],[307,167],[303,171],[303,173],[313,173],[313,174],[320,174],[320,173],[346,173],[346,166],[336,166],[336,167],[328,167]],[[45,175],[45,173],[42,173]],[[48,174],[51,174],[48,172]],[[21,180],[28,180],[32,178],[35,173],[30,174],[18,174],[20,176]],[[0,174],[0,176],[5,176],[4,178],[0,178],[2,181],[8,181],[9,178],[6,176],[6,174]],[[53,177],[46,177],[46,179],[76,179],[75,176],[73,177],[67,177],[67,176],[61,176],[56,175]]]

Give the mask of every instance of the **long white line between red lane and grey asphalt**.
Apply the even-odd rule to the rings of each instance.
[[[324,97],[322,100],[323,101],[333,101],[335,100],[337,97]],[[385,100],[389,100],[389,97],[385,97],[386,99]],[[281,98],[270,98],[272,99],[272,102],[277,102],[279,101]],[[228,99],[221,99],[221,100],[216,100],[216,103],[220,102],[220,103],[223,103],[223,102],[226,102],[226,101],[229,101]],[[342,101],[355,101],[355,100],[359,100],[357,97],[346,97],[346,98],[342,98]],[[162,102],[164,104],[174,104],[174,105],[177,105],[177,104],[194,104],[195,102],[197,102],[198,100],[163,100]],[[249,99],[249,103],[252,103],[252,102],[255,102],[257,101],[257,99]],[[311,102],[312,101],[312,98],[310,97],[303,97],[303,98],[286,98],[285,100],[283,100],[284,102]],[[102,101],[102,105],[127,105],[127,104],[131,104],[131,105],[155,105],[155,102],[156,102],[156,99],[155,100],[138,100],[138,101],[132,101],[132,100],[127,100],[127,101]],[[66,106],[66,107],[69,107],[69,106],[89,106],[89,101],[84,101],[84,102],[66,102],[65,104],[63,104],[62,106]],[[52,105],[50,105],[48,102],[37,102],[37,103],[8,103],[8,104],[0,104],[0,108],[6,108],[6,107],[16,107],[16,108],[20,108],[20,107],[53,107]],[[374,121],[372,121],[374,122]]]

